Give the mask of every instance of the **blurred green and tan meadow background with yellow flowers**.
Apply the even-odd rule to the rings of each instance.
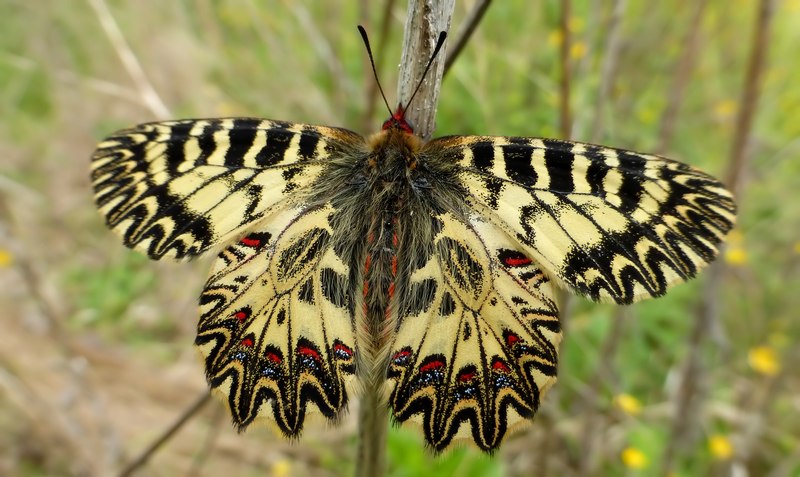
[[[534,425],[493,458],[434,458],[414,429],[392,429],[390,475],[800,475],[800,1],[775,4],[739,224],[714,273],[626,309],[574,300]],[[457,5],[452,33],[472,5]],[[231,115],[373,132],[386,114],[364,116],[355,25],[377,42],[385,8],[0,1],[0,474],[118,473],[206,389],[192,342],[209,263],[150,262],[106,231],[88,180],[97,141]],[[393,103],[406,6],[388,8],[375,49]],[[727,177],[757,8],[573,2],[572,137]],[[559,136],[560,12],[494,2],[444,80],[436,135]],[[350,475],[352,411],[290,443],[236,434],[214,402],[137,475]]]

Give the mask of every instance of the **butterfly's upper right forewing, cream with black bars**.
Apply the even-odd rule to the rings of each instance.
[[[714,259],[735,221],[722,184],[659,156],[513,137],[451,136],[426,147],[460,166],[468,206],[549,276],[595,300],[664,294]]]

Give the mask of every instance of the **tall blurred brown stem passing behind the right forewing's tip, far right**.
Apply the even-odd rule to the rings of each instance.
[[[728,173],[726,174],[728,188],[738,195],[742,187],[742,171],[746,167],[748,146],[752,132],[753,117],[758,103],[759,85],[765,69],[767,48],[769,46],[769,32],[775,12],[774,0],[761,0],[758,6],[758,18],[755,25],[753,49],[750,52],[747,75],[742,88],[741,107],[736,118],[736,129],[733,134]],[[690,338],[689,356],[683,374],[678,401],[675,406],[670,441],[664,452],[662,461],[662,475],[669,475],[677,452],[679,443],[684,439],[686,423],[690,422],[691,408],[698,400],[698,388],[701,384],[701,348],[708,335],[711,325],[719,318],[719,288],[724,276],[724,264],[716,263],[710,267],[707,286],[704,293],[705,307],[701,310],[695,322],[695,328]]]

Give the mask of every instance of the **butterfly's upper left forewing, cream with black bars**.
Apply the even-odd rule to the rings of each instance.
[[[265,119],[142,124],[98,146],[95,202],[128,247],[154,259],[192,257],[301,200],[328,160],[363,141],[345,129]]]

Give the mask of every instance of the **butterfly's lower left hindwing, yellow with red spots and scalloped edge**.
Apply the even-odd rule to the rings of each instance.
[[[350,264],[331,246],[329,206],[287,210],[222,251],[200,297],[196,344],[213,390],[243,428],[298,435],[335,419],[355,373]]]

